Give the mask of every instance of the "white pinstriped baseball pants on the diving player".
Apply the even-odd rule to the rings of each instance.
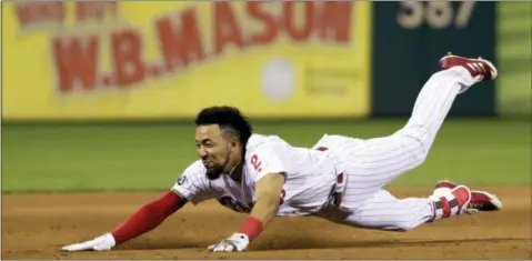
[[[342,213],[331,219],[354,227],[411,230],[432,217],[428,198],[397,199],[382,190],[426,159],[456,96],[475,83],[463,68],[434,73],[421,89],[406,124],[389,137],[355,139],[325,134],[314,148],[328,148],[344,172]]]

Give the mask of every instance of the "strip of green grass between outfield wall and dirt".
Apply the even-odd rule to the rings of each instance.
[[[322,133],[387,135],[404,121],[257,123],[294,145]],[[524,121],[451,120],[428,161],[393,185],[430,185],[450,178],[469,183],[530,183],[531,128]],[[165,190],[197,159],[193,127],[3,126],[2,191]]]

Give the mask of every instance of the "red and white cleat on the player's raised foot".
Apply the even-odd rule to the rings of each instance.
[[[478,79],[479,81],[494,80],[498,76],[495,66],[482,58],[471,59],[449,53],[440,59],[440,66],[443,69],[463,67],[471,73],[473,78]]]

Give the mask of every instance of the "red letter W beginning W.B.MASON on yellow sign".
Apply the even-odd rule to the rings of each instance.
[[[90,36],[83,40],[78,37],[53,39],[53,56],[59,72],[60,91],[71,91],[77,80],[81,81],[82,88],[86,90],[94,88],[98,43],[96,36]]]

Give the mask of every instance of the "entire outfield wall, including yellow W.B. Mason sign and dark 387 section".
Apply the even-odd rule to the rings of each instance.
[[[7,121],[408,116],[446,51],[501,64],[452,114],[530,116],[530,2],[4,6]]]

